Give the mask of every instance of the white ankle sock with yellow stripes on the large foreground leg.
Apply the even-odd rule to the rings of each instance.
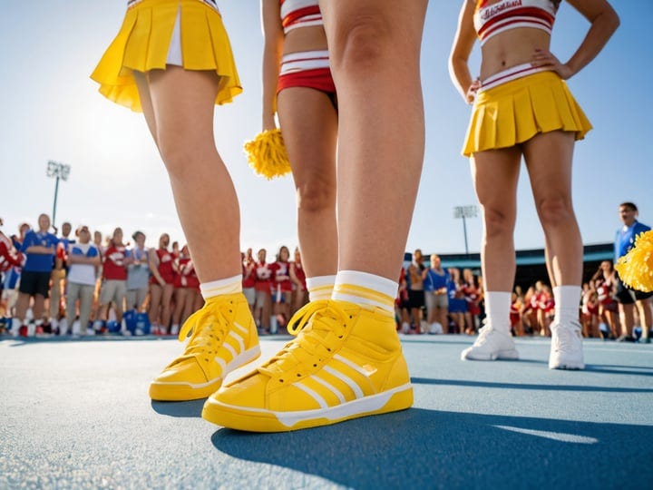
[[[340,270],[331,299],[348,301],[367,309],[373,307],[395,313],[395,298],[399,284],[375,274],[358,270]]]

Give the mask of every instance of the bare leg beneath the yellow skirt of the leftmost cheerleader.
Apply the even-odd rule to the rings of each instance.
[[[239,275],[238,198],[213,137],[219,77],[214,72],[168,66],[165,71],[151,71],[147,83],[142,82],[141,75],[145,120],[168,170],[200,281]],[[207,206],[215,212],[197,212]]]

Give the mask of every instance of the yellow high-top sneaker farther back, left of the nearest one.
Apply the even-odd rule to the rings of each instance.
[[[184,353],[150,385],[153,400],[184,401],[209,397],[234,369],[260,356],[256,324],[242,293],[207,299],[180,330]]]

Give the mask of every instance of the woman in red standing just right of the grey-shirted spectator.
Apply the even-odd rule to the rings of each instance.
[[[175,264],[168,246],[170,235],[159,237],[159,248],[150,250],[150,324],[152,333],[166,335],[171,326],[171,302],[174,292]]]

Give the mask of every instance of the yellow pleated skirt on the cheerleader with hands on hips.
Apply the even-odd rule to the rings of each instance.
[[[533,73],[478,93],[463,155],[510,148],[539,132],[575,132],[582,140],[591,127],[557,73]]]

